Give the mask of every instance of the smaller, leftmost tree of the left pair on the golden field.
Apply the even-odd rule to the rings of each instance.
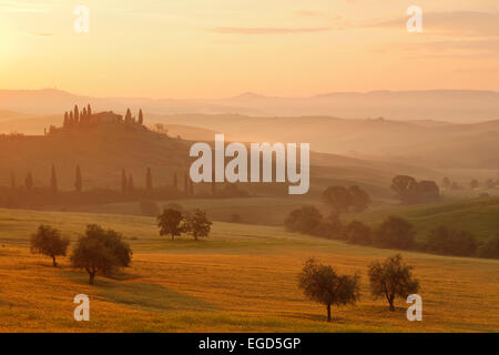
[[[53,266],[58,266],[57,256],[65,256],[69,239],[61,236],[61,232],[50,225],[40,225],[37,233],[31,235],[31,253],[39,253],[52,257]]]

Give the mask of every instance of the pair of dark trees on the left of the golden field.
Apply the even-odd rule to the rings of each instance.
[[[31,236],[31,252],[52,257],[53,266],[58,265],[58,256],[67,255],[69,244],[69,239],[49,225],[40,225]],[[96,224],[86,226],[71,255],[71,266],[86,271],[91,285],[98,273],[110,275],[116,268],[129,266],[131,261],[132,250],[123,236]]]

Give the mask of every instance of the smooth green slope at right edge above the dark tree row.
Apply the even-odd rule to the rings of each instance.
[[[429,231],[440,225],[468,231],[480,241],[486,241],[499,232],[499,197],[444,200],[411,206],[383,206],[349,217],[377,225],[389,215],[398,215],[411,222],[419,241],[424,241]]]

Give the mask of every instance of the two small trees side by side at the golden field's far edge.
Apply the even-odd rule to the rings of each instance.
[[[160,235],[171,235],[172,241],[182,233],[191,234],[194,240],[208,236],[212,222],[206,217],[206,212],[194,210],[192,212],[183,212],[179,209],[165,209],[157,216],[157,226]]]

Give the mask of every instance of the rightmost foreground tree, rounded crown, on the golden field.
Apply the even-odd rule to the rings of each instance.
[[[369,265],[370,292],[375,298],[386,297],[390,311],[395,298],[407,298],[419,290],[419,281],[413,276],[413,266],[406,265],[400,254]]]

